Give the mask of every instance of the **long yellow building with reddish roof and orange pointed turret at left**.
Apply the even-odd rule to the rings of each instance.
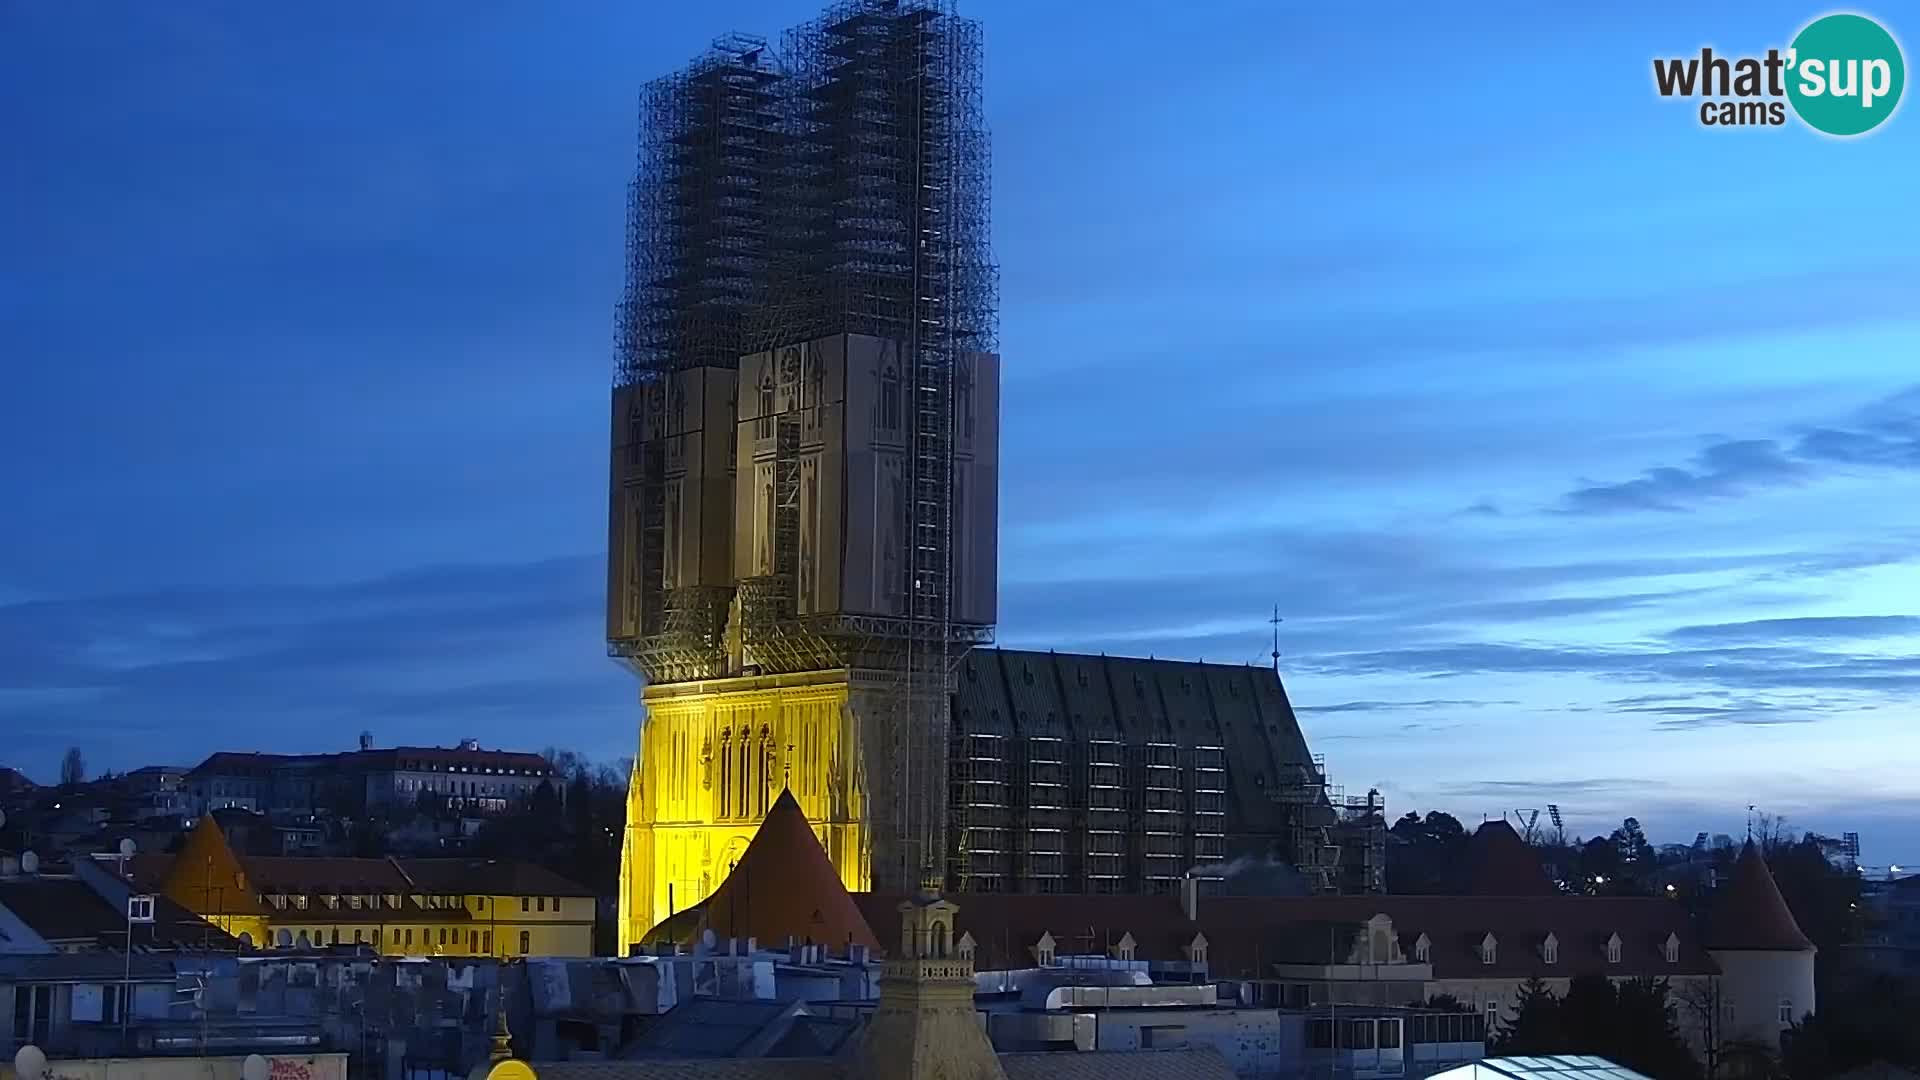
[[[246,857],[209,815],[177,855],[140,857],[136,874],[252,947],[593,955],[593,894],[534,863]]]

